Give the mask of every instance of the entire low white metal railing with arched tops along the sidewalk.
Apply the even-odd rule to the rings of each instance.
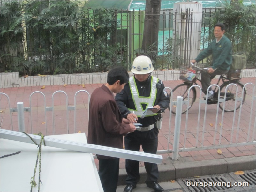
[[[230,84],[231,85],[231,84]],[[235,85],[235,84],[233,84]],[[217,85],[211,85],[211,86],[217,86]],[[228,85],[229,86],[229,85]],[[227,88],[228,88],[227,86]],[[237,101],[242,101],[243,94],[245,93],[245,88],[248,86],[252,86],[252,92],[246,93],[246,102],[243,104],[240,103],[240,108],[234,112],[226,113],[221,110],[219,110],[219,103],[224,102],[223,109],[225,109],[225,100],[226,100],[226,93],[227,88],[225,90],[225,97],[223,99],[218,99],[217,105],[214,105],[216,108],[212,109],[209,108],[209,105],[207,105],[207,100],[203,100],[199,97],[197,97],[198,107],[193,106],[185,114],[181,114],[181,107],[182,105],[186,105],[187,109],[189,107],[189,101],[183,100],[182,97],[178,97],[177,101],[174,101],[173,98],[173,92],[172,89],[169,87],[166,87],[167,90],[170,91],[170,110],[175,105],[176,106],[176,115],[175,115],[175,126],[173,129],[173,123],[172,123],[172,113],[169,114],[169,129],[168,129],[168,138],[167,138],[167,148],[164,150],[158,150],[157,154],[163,154],[163,153],[173,153],[173,160],[177,160],[178,153],[184,152],[184,151],[198,151],[198,150],[207,150],[207,149],[217,149],[217,148],[226,148],[226,147],[236,147],[236,146],[245,146],[245,145],[251,145],[255,144],[255,86],[252,83],[247,83],[243,87],[242,97],[237,97],[234,101],[234,106],[236,106]],[[218,86],[217,86],[218,87]],[[199,91],[197,92],[198,95],[201,95],[201,88],[198,85],[193,85],[190,87],[188,94],[190,94],[190,90],[192,88],[196,88]],[[220,88],[218,87],[220,90]],[[45,95],[42,92],[36,91],[31,93],[29,97],[29,107],[24,107],[22,102],[17,103],[17,108],[11,108],[10,107],[10,99],[8,95],[5,93],[1,93],[4,96],[7,97],[8,103],[9,103],[9,109],[10,109],[10,124],[11,129],[13,130],[13,123],[12,123],[12,114],[13,112],[18,112],[18,119],[19,119],[19,130],[24,131],[25,125],[24,125],[24,112],[30,112],[30,125],[31,125],[31,133],[32,133],[32,105],[31,105],[31,99],[32,96],[35,93],[42,94],[44,97],[44,115],[45,115],[45,132],[46,135],[48,133],[48,125],[47,122],[49,120],[47,119],[46,112],[52,111],[52,122],[53,122],[53,134],[56,134],[55,131],[55,121],[54,121],[54,95],[56,93],[64,93],[66,97],[66,118],[67,118],[67,133],[70,133],[69,130],[69,113],[68,111],[74,110],[74,132],[77,132],[77,121],[76,121],[76,97],[77,94],[80,92],[85,92],[88,95],[88,108],[89,108],[89,102],[90,102],[90,94],[85,90],[80,90],[75,93],[74,96],[74,106],[68,105],[68,96],[64,91],[56,91],[52,95],[52,106],[46,107],[46,99]],[[237,90],[236,90],[237,93]],[[237,94],[236,94],[237,95]],[[220,93],[219,93],[220,96]],[[188,95],[189,98],[189,95]],[[205,105],[203,107],[203,105]],[[22,109],[23,108],[23,109]],[[211,111],[211,116],[207,114],[208,111]],[[244,112],[244,113],[243,113]],[[246,113],[245,113],[246,112]],[[204,113],[202,115],[202,113]],[[247,114],[247,115],[246,115]],[[244,116],[246,115],[246,117]],[[249,117],[249,118],[248,118]],[[194,124],[188,123],[191,119],[197,118],[197,122],[194,121]],[[246,127],[243,127],[244,125],[241,124],[241,121],[248,122],[248,125]],[[23,120],[22,120],[23,119]],[[212,121],[212,125],[209,128],[209,119]],[[215,119],[215,120],[214,120]],[[185,125],[184,125],[185,120]],[[3,121],[3,120],[2,120]],[[254,121],[254,122],[253,122]],[[230,128],[227,129],[226,122],[229,122]],[[208,123],[208,124],[207,124]],[[181,124],[183,124],[181,126]],[[2,125],[1,128],[3,129]],[[211,137],[209,137],[209,134]],[[239,137],[239,134],[242,134],[242,138]],[[173,135],[174,139],[171,140],[170,136]],[[192,136],[192,138],[190,138]],[[181,139],[184,137],[183,139]],[[207,140],[211,138],[211,140]],[[193,140],[193,142],[190,142],[190,140]],[[235,141],[234,141],[235,140]],[[170,146],[173,146],[173,149],[169,149]],[[179,147],[181,145],[182,147]]]

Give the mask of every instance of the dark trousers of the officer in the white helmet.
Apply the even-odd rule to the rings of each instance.
[[[132,151],[139,151],[140,145],[145,153],[156,154],[158,145],[158,129],[154,128],[150,131],[134,131],[124,137],[125,149]],[[145,169],[147,172],[146,183],[157,181],[159,177],[158,167],[155,163],[145,162]],[[126,178],[126,184],[132,184],[136,186],[140,179],[139,175],[139,161],[126,159],[125,169],[128,174]]]

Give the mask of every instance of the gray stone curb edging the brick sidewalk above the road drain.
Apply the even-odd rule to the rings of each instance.
[[[159,182],[170,181],[184,177],[222,174],[235,171],[251,170],[256,168],[256,155],[212,159],[202,161],[185,161],[183,158],[173,161],[172,164],[158,165]],[[139,168],[140,181],[144,183],[147,178],[145,167]],[[118,185],[125,185],[125,169],[119,169]]]

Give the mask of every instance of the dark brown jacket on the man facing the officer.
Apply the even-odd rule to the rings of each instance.
[[[122,135],[128,132],[129,125],[122,124],[113,93],[105,85],[95,89],[89,105],[88,143],[122,149]],[[97,157],[113,159],[102,155]]]

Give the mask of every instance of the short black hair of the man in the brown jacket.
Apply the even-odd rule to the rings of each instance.
[[[124,67],[115,67],[108,73],[107,83],[109,85],[113,85],[118,80],[120,81],[120,85],[128,83],[129,81],[129,74]]]

